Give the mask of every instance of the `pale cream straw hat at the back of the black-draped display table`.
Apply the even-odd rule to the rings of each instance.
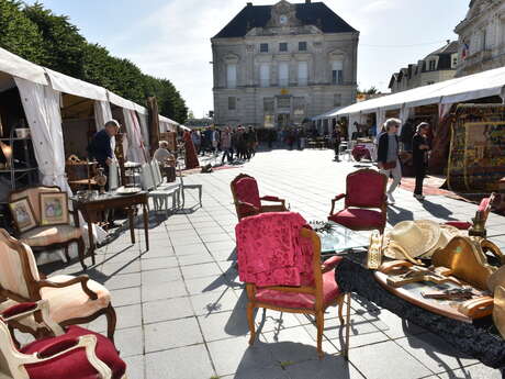
[[[393,259],[404,259],[404,256],[390,246],[399,245],[411,257],[416,258],[431,250],[440,238],[440,226],[429,220],[402,221],[385,234],[384,255]]]

